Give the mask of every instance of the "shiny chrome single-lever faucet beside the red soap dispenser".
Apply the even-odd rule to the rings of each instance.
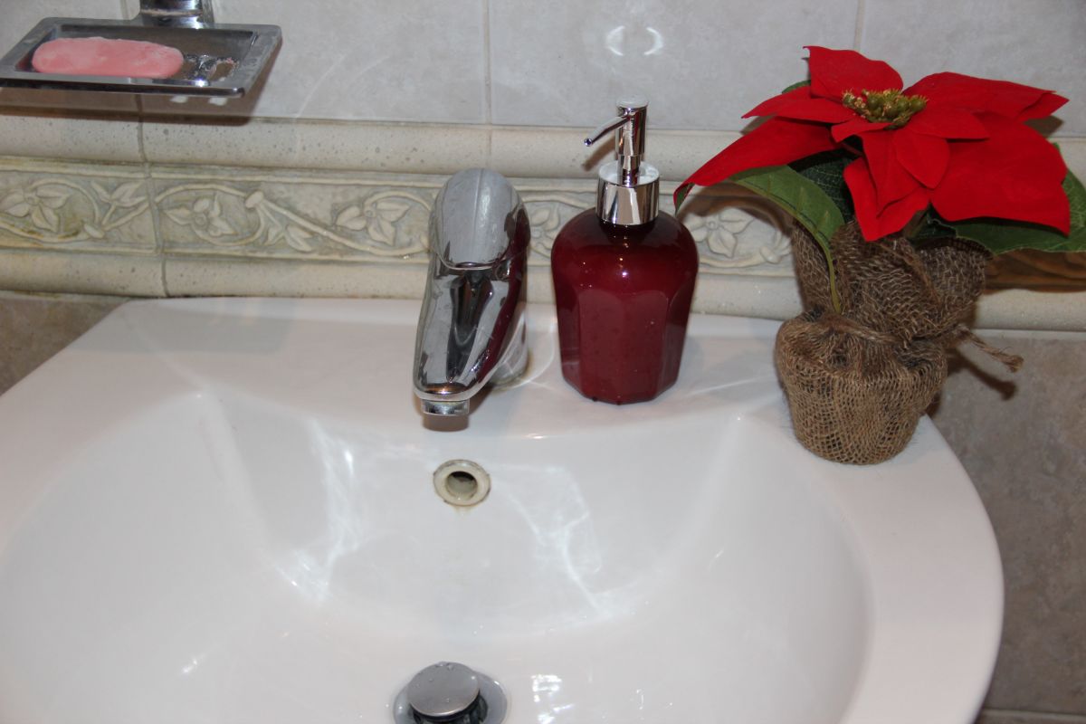
[[[415,338],[415,395],[424,412],[465,416],[488,382],[523,372],[530,238],[520,195],[501,174],[463,170],[438,193]]]

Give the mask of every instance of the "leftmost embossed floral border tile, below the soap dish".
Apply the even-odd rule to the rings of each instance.
[[[0,161],[0,246],[155,252],[143,168]]]

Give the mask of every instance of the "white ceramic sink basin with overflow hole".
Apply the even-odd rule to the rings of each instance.
[[[134,302],[0,397],[0,723],[391,723],[438,661],[509,724],[972,722],[999,557],[929,420],[816,458],[778,325],[718,316],[661,397],[592,403],[530,307],[526,376],[440,429],[417,314]]]

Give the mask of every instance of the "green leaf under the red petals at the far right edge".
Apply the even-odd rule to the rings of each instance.
[[[1039,224],[1006,219],[969,219],[945,224],[959,237],[972,239],[993,254],[1005,254],[1016,249],[1036,249],[1043,252],[1086,251],[1086,188],[1069,170],[1063,179],[1063,191],[1071,204],[1071,232],[1068,236]]]

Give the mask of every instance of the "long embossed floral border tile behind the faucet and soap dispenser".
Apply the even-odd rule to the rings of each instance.
[[[176,255],[425,264],[429,217],[447,177],[252,174],[152,169],[164,249]],[[532,226],[534,266],[569,219],[595,204],[595,183],[514,179]],[[667,203],[665,201],[665,203]],[[787,238],[728,192],[694,196],[683,211],[703,271],[788,276]]]

